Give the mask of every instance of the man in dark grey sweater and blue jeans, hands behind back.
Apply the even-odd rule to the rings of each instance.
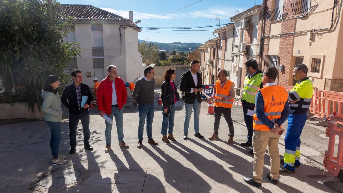
[[[132,98],[138,105],[139,125],[138,125],[138,144],[137,147],[142,147],[144,122],[146,118],[146,134],[148,143],[158,145],[152,138],[152,121],[154,119],[154,67],[148,66],[144,69],[144,76],[137,80]]]

